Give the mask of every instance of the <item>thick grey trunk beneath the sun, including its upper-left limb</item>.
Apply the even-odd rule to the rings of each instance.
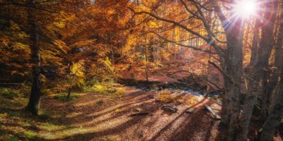
[[[217,2],[213,1],[213,6],[216,15],[221,20],[222,27],[224,27],[227,42],[224,55],[219,54],[223,58],[221,67],[225,73],[225,92],[222,95],[222,104],[224,105],[222,105],[221,109],[221,123],[228,126],[228,140],[234,140],[240,116],[239,96],[241,93],[241,72],[243,67],[243,21],[241,18],[236,18],[233,22],[227,20]],[[233,13],[231,14],[233,15]]]

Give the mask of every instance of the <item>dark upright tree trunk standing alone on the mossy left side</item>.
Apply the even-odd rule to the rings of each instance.
[[[37,28],[37,21],[35,20],[33,9],[35,8],[35,1],[28,1],[28,24],[29,24],[29,35],[30,41],[32,44],[30,45],[31,50],[31,63],[33,63],[32,75],[33,75],[33,83],[31,86],[30,99],[28,102],[28,106],[26,109],[30,111],[32,114],[37,115],[38,109],[40,108],[40,97],[41,97],[41,65],[40,65],[40,46],[38,43],[39,35]]]

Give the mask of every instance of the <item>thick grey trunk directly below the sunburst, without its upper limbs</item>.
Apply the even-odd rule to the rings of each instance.
[[[228,111],[229,138],[234,140],[238,130],[238,117],[240,115],[240,93],[243,66],[243,23],[241,19],[234,21],[231,31],[226,35],[227,50],[225,71],[229,78],[226,83],[226,111]],[[236,26],[240,25],[240,29]]]

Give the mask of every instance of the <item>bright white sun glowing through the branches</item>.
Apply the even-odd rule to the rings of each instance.
[[[255,0],[240,0],[233,6],[236,16],[241,18],[250,18],[257,13],[257,2]]]

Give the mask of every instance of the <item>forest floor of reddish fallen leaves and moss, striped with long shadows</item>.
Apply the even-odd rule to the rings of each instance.
[[[179,93],[195,97],[194,102],[179,104],[178,112],[170,113],[161,109],[164,102],[151,97],[158,91],[120,87],[127,93],[116,98],[93,92],[76,94],[71,102],[44,97],[45,113],[37,118],[22,110],[26,100],[1,98],[0,140],[219,140],[219,121],[204,109],[207,104],[219,113],[212,99]],[[137,108],[149,114],[130,116]],[[193,113],[185,113],[187,109]]]

